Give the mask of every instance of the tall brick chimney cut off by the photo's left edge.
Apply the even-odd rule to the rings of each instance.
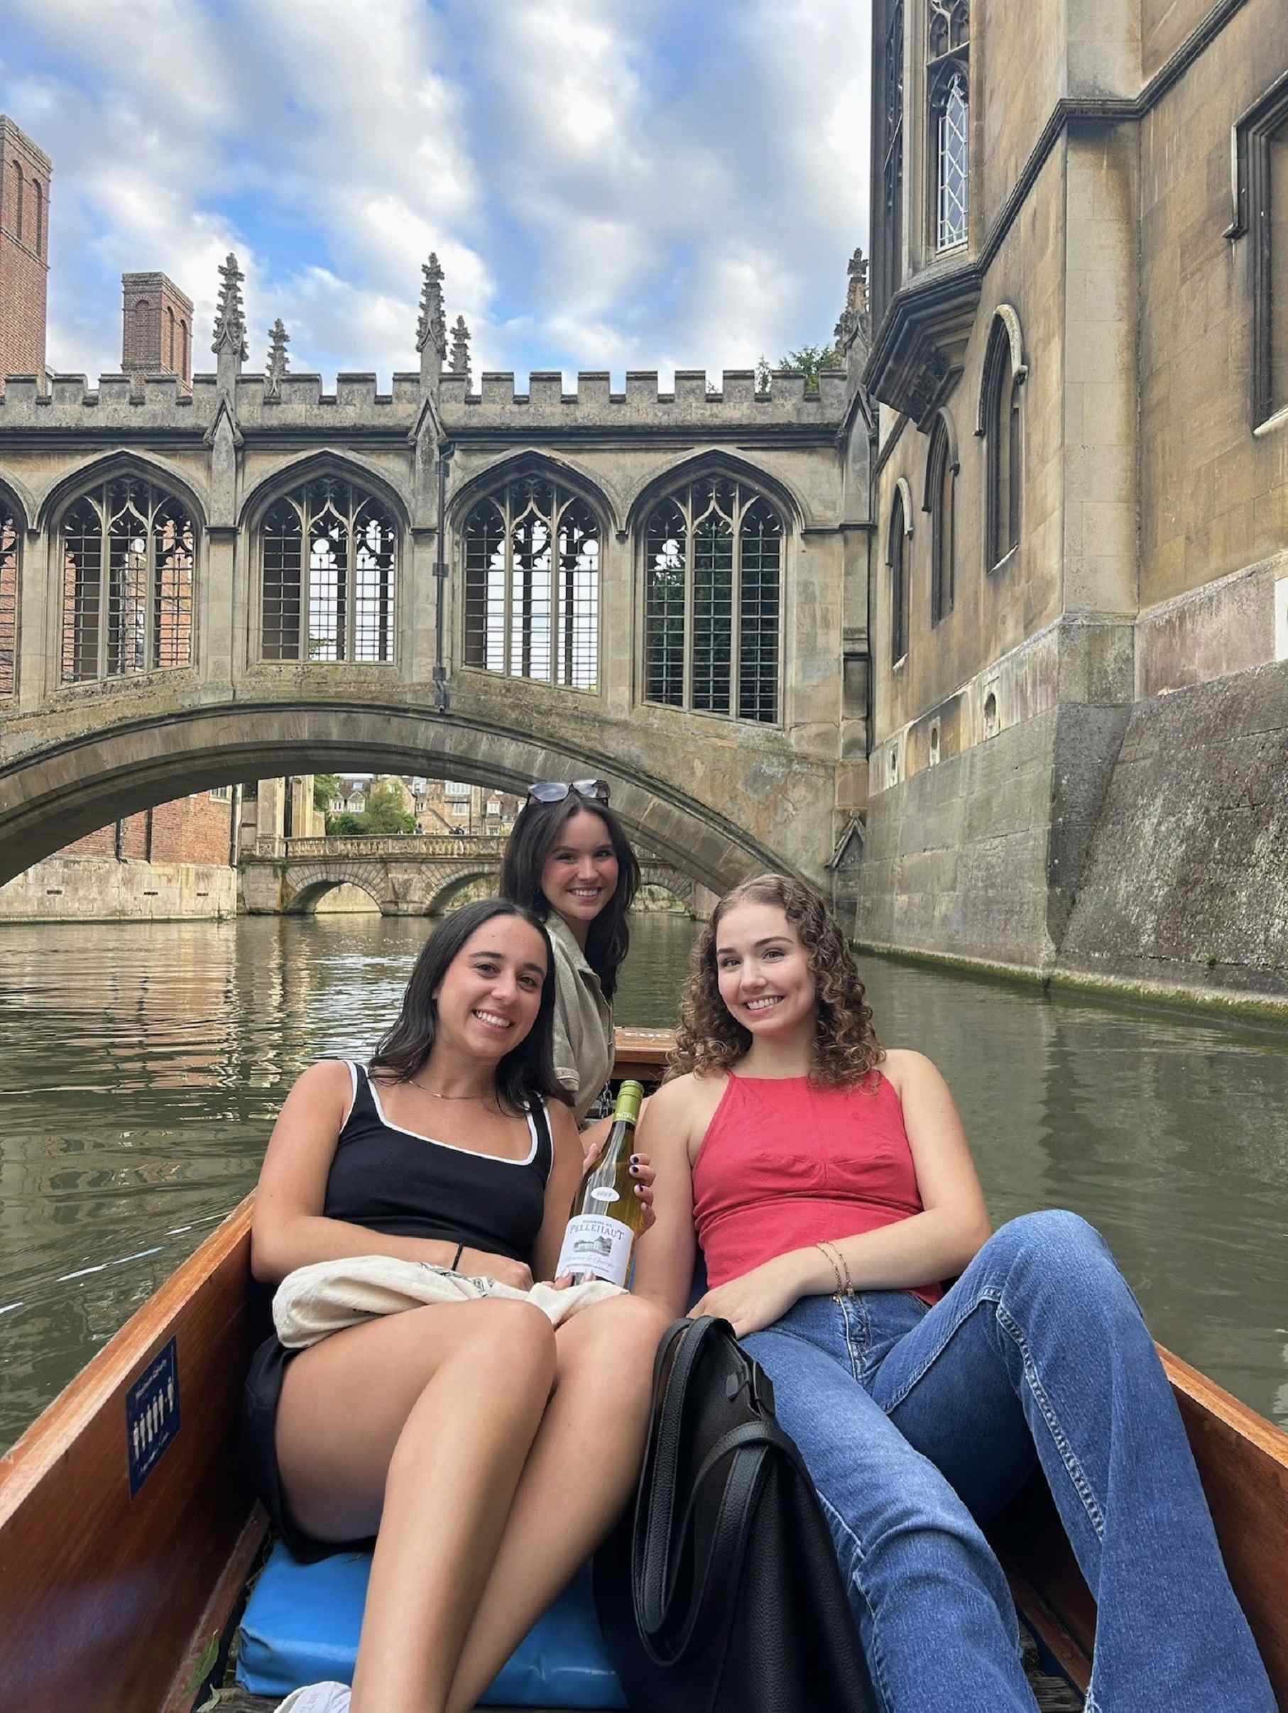
[[[5,375],[45,387],[53,163],[0,113],[0,392]]]

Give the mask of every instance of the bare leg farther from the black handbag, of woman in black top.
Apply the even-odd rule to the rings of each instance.
[[[277,1458],[293,1516],[320,1540],[379,1528],[353,1713],[447,1704],[553,1379],[550,1321],[495,1300],[385,1316],[286,1370]]]

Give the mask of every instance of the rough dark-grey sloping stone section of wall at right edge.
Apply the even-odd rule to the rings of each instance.
[[[1132,709],[1060,966],[1288,997],[1288,661]]]

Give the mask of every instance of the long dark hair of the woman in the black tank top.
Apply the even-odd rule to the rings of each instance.
[[[567,1091],[555,1081],[555,958],[550,951],[550,935],[534,911],[507,898],[483,898],[476,904],[462,904],[425,940],[402,995],[402,1007],[372,1055],[372,1069],[392,1071],[399,1083],[414,1077],[430,1057],[438,1033],[438,1006],[433,995],[469,935],[495,916],[519,916],[536,928],[546,949],[546,976],[541,983],[536,1021],[497,1065],[497,1098],[512,1112],[526,1112],[534,1096],[567,1101]]]

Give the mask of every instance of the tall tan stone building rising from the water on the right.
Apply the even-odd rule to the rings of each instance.
[[[1288,992],[1288,10],[877,0],[862,940]]]

